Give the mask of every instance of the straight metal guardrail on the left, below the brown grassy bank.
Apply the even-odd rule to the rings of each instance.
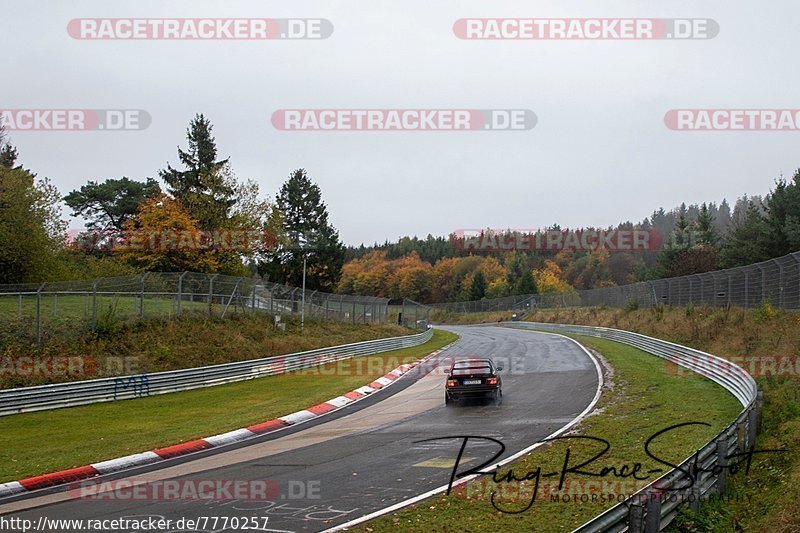
[[[433,330],[427,329],[422,333],[402,337],[357,342],[236,363],[0,390],[0,416],[141,398],[273,376],[358,355],[418,346],[430,340],[432,336]]]

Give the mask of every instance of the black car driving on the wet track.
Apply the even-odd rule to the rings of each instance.
[[[495,403],[503,401],[503,380],[491,359],[460,359],[447,371],[444,403],[451,405],[461,398],[491,398]]]

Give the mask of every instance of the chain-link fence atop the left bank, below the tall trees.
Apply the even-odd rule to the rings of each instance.
[[[83,324],[92,331],[109,322],[204,313],[270,313],[307,320],[377,323],[388,319],[386,298],[329,294],[258,279],[196,272],[0,285],[2,334],[35,339],[48,328]],[[2,341],[2,339],[0,339]]]

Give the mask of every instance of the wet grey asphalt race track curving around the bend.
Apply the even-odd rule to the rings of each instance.
[[[358,402],[316,423],[302,424],[214,453],[201,452],[113,477],[161,482],[268,480],[270,501],[98,499],[50,491],[0,505],[2,518],[39,517],[115,519],[164,517],[253,517],[261,531],[322,531],[446,485],[461,441],[417,442],[452,435],[493,437],[508,457],[571,422],[591,404],[598,369],[569,339],[500,327],[446,327],[461,339],[437,361],[398,380],[385,392]],[[501,405],[473,402],[444,405],[445,375],[437,363],[466,355],[503,361]],[[420,368],[420,367],[418,367]],[[470,441],[461,464],[488,460],[496,447]],[[463,468],[462,468],[463,470]],[[105,479],[105,478],[98,478]],[[162,485],[163,486],[163,485]],[[253,487],[254,485],[247,485]],[[280,495],[278,495],[280,493]],[[169,531],[243,531],[216,526]],[[64,531],[72,531],[64,529]],[[130,529],[123,531],[132,531]],[[165,530],[160,530],[165,531]],[[250,531],[253,531],[252,529]]]

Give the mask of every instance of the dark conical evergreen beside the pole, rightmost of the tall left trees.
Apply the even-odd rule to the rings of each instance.
[[[328,220],[319,186],[298,169],[281,187],[276,205],[286,237],[275,251],[265,254],[259,271],[271,281],[299,287],[305,255],[306,288],[332,291],[341,276],[345,247]]]

